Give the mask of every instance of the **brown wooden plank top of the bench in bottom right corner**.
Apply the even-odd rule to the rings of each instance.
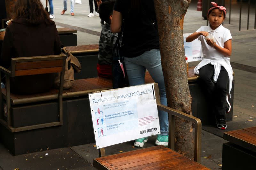
[[[223,134],[223,139],[256,152],[256,126],[225,132]]]

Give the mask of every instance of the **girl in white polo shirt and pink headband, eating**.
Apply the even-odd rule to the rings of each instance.
[[[189,35],[186,42],[198,38],[203,48],[203,60],[195,67],[195,74],[199,74],[199,81],[204,88],[209,104],[215,114],[217,127],[226,129],[225,112],[230,111],[227,85],[229,82],[229,95],[232,88],[233,70],[230,65],[232,52],[232,36],[227,28],[222,26],[226,17],[226,8],[211,3],[213,7],[208,10],[207,18],[210,26],[201,26],[196,32]],[[209,110],[210,110],[209,109]]]

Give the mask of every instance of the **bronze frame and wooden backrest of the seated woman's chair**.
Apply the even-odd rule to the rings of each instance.
[[[36,57],[20,57],[12,58],[10,70],[5,69],[0,66],[0,71],[3,72],[5,76],[5,101],[4,104],[4,114],[6,115],[6,121],[3,119],[3,115],[0,115],[0,123],[4,125],[11,132],[18,131],[28,131],[32,129],[39,129],[51,126],[58,126],[63,124],[62,119],[62,90],[63,81],[65,73],[65,64],[67,56],[61,55],[50,55],[50,56],[36,56]],[[49,64],[50,63],[50,64]],[[10,96],[10,77],[25,76],[25,75],[37,75],[37,74],[47,74],[47,73],[61,73],[60,76],[60,87],[58,89],[58,94],[56,94],[56,99],[58,100],[58,113],[59,121],[50,122],[44,124],[35,124],[22,127],[13,127],[11,124],[11,96]],[[1,79],[1,74],[0,74]],[[2,88],[0,88],[0,93],[2,94]],[[0,95],[0,101],[2,102],[2,95]],[[2,105],[0,105],[2,106]],[[2,108],[0,107],[0,110]]]

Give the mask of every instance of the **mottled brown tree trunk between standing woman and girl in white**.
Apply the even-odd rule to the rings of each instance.
[[[167,105],[187,114],[192,114],[192,98],[188,88],[183,21],[190,1],[154,0]],[[192,123],[179,118],[175,122],[175,151],[194,159]]]

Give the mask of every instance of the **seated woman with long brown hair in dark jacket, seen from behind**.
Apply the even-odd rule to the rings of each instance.
[[[18,0],[12,24],[6,28],[0,65],[9,68],[11,58],[56,55],[61,42],[55,23],[49,18],[40,0]],[[11,79],[11,92],[33,94],[48,91],[54,74],[18,76]]]

